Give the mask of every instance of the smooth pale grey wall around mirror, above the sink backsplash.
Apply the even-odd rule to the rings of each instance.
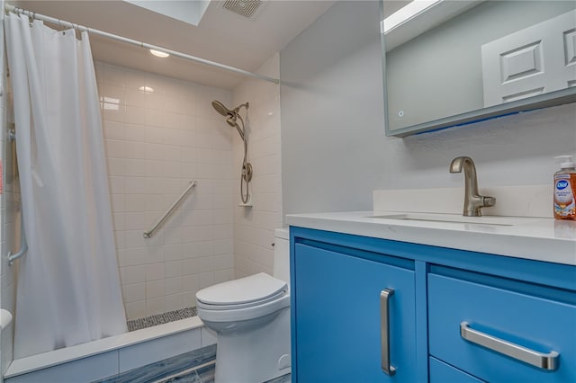
[[[576,152],[564,105],[409,138],[383,130],[377,1],[338,2],[280,52],[284,213],[372,209],[377,189],[551,183],[554,156]]]

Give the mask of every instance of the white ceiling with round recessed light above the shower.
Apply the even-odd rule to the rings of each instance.
[[[250,72],[284,49],[335,2],[265,0],[247,19],[224,9],[223,1],[212,0],[196,27],[120,0],[9,1],[29,11]],[[182,58],[156,58],[147,49],[126,43],[94,35],[90,39],[96,60],[224,89],[233,89],[244,78]]]

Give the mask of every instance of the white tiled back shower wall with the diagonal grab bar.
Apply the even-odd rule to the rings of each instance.
[[[234,277],[231,93],[96,63],[122,296],[129,319],[195,305]],[[148,88],[144,88],[144,87]],[[198,185],[145,239],[191,180]]]

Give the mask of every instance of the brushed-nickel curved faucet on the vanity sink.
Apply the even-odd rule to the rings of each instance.
[[[478,180],[476,178],[476,166],[472,158],[456,157],[450,164],[450,173],[462,173],[464,168],[464,216],[481,217],[482,208],[494,206],[494,197],[484,197],[478,193]]]

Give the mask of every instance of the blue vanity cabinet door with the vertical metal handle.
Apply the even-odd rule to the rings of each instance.
[[[366,259],[312,245],[294,248],[294,381],[417,381],[414,271],[381,263],[377,254]],[[388,332],[383,289],[393,290]],[[382,368],[383,332],[389,335],[392,377]]]

